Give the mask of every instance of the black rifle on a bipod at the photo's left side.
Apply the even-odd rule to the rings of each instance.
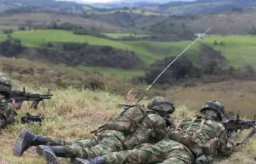
[[[23,91],[12,90],[11,97],[15,100],[15,103],[22,103],[23,101],[33,101],[32,105],[29,108],[37,109],[40,101],[43,103],[43,109],[45,110],[45,99],[51,99],[53,94],[50,94],[50,89],[48,89],[47,94],[30,94],[26,92],[25,87],[23,87]]]

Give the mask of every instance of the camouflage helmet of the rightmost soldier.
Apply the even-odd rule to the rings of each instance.
[[[200,110],[200,113],[205,111],[206,109],[213,109],[218,113],[219,120],[222,121],[224,119],[225,108],[222,103],[219,103],[217,100],[209,100]]]

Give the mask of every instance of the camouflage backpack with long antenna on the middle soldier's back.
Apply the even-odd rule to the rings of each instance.
[[[120,114],[107,124],[99,127],[91,133],[99,133],[104,130],[117,130],[124,134],[133,133],[136,125],[147,116],[147,108],[144,105],[125,105]]]

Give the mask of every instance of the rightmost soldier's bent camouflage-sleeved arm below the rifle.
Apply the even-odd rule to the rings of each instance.
[[[235,139],[234,138],[228,138],[227,131],[222,130],[222,132],[219,135],[219,155],[221,156],[230,156],[235,150]]]

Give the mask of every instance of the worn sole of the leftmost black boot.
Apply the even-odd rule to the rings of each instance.
[[[29,149],[32,138],[34,138],[34,135],[29,130],[21,130],[18,140],[13,147],[13,154],[15,156],[21,156],[26,149]]]

